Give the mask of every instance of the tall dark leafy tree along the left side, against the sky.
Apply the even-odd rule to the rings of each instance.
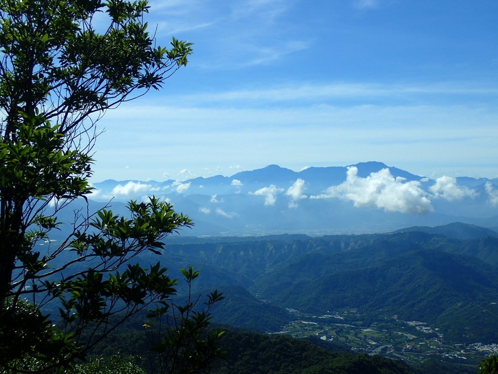
[[[148,8],[145,0],[0,0],[0,364],[9,370],[53,371],[175,292],[159,262],[130,262],[161,254],[166,235],[192,225],[172,205],[151,197],[130,201],[127,216],[106,206],[57,220],[91,193],[97,121],[187,65],[192,44],[156,46]],[[39,245],[63,226],[65,240]],[[61,328],[43,313],[54,301]]]

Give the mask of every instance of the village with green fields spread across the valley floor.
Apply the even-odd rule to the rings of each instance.
[[[345,308],[317,316],[287,308],[295,316],[278,334],[296,338],[314,336],[323,341],[351,347],[353,352],[381,355],[407,363],[433,358],[454,364],[475,365],[498,354],[498,344],[479,342],[464,345],[444,339],[437,328],[422,321],[402,321],[397,316],[372,319],[358,309]]]

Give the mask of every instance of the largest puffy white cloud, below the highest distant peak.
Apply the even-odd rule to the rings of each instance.
[[[344,183],[329,187],[326,193],[311,198],[338,197],[353,201],[356,207],[372,206],[391,212],[431,212],[431,202],[420,187],[420,182],[405,181],[405,178],[394,178],[389,169],[382,169],[371,173],[367,178],[360,178],[358,168],[349,167]]]

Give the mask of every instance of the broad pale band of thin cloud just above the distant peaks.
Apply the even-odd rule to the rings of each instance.
[[[159,179],[161,172],[177,170],[178,165],[197,168],[195,173],[202,175],[203,168],[212,170],[213,165],[225,162],[223,167],[235,174],[242,168],[237,163],[247,170],[268,163],[298,170],[302,165],[329,166],[332,159],[338,163],[335,165],[348,165],[373,158],[393,165],[416,160],[419,168],[410,171],[419,175],[456,176],[458,170],[460,175],[478,172],[486,176],[484,168],[476,167],[495,165],[498,156],[498,112],[491,104],[339,106],[300,102],[251,108],[246,103],[202,107],[185,106],[186,102],[195,104],[195,100],[182,104],[172,99],[171,106],[164,105],[164,100],[154,106],[149,100],[109,112],[106,126],[119,127],[120,132],[100,137],[96,180],[116,175],[114,163],[106,160],[136,163],[136,155],[157,156],[148,156],[137,171],[146,176],[159,173],[155,177]],[[172,123],[186,124],[188,133],[180,127],[164,131],[164,113],[169,113]],[[136,134],[134,124],[144,121],[149,133]],[[170,144],[169,155],[163,158],[164,144],[171,138],[182,142]]]

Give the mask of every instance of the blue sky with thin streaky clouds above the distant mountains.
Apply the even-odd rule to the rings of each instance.
[[[380,161],[498,177],[496,0],[155,0],[194,42],[163,90],[99,122],[94,181]]]

